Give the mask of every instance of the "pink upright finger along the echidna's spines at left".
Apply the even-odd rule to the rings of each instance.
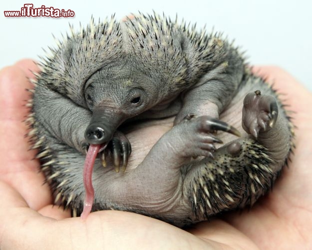
[[[27,126],[22,121],[28,112],[24,100],[29,97],[25,88],[29,86],[20,67],[0,71],[0,106],[5,107],[0,112],[0,179],[16,188],[30,207],[38,209],[51,202],[51,197],[48,186],[42,186],[44,176],[38,174],[38,161],[33,160],[36,152],[28,150],[24,137]]]

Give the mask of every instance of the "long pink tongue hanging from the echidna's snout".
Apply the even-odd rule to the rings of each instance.
[[[85,157],[83,167],[83,184],[85,189],[85,197],[83,203],[83,211],[80,215],[82,219],[85,219],[91,212],[93,200],[94,200],[94,189],[92,186],[92,170],[96,155],[100,149],[100,144],[90,144],[87,156]]]

